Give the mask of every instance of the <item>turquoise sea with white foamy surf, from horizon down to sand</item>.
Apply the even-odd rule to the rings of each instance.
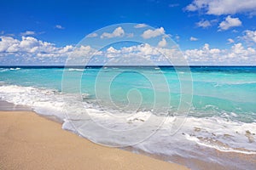
[[[195,169],[256,166],[254,66],[2,66],[0,100],[97,144]]]

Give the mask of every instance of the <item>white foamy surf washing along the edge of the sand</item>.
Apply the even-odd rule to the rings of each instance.
[[[143,150],[151,154],[188,157],[195,157],[193,153],[198,152],[200,147],[199,159],[209,157],[206,148],[222,152],[256,154],[256,122],[231,121],[220,116],[188,116],[183,117],[185,121],[183,126],[173,134],[173,129],[177,128],[173,122],[180,118],[178,115],[166,118],[165,116],[156,116],[151,111],[138,111],[135,115],[125,111],[106,111],[96,103],[87,102],[86,99],[89,96],[89,94],[61,94],[55,89],[6,84],[2,84],[0,88],[1,99],[16,105],[28,105],[43,116],[55,116],[64,122],[63,129],[78,133],[96,143],[131,144],[130,139],[139,139],[145,133],[155,131],[150,138],[145,138],[132,147],[135,150]],[[149,117],[154,121],[148,122]],[[155,124],[157,120],[164,121],[160,127]],[[108,135],[102,131],[100,126],[95,128],[94,123],[115,131],[116,135]],[[122,136],[123,133],[119,133],[143,125],[145,125],[143,130],[137,131],[133,136],[127,137],[125,133]],[[215,159],[219,161],[218,157]]]

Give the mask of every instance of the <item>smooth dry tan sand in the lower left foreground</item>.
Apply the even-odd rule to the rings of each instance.
[[[0,111],[0,169],[188,169],[94,144],[32,111]]]

